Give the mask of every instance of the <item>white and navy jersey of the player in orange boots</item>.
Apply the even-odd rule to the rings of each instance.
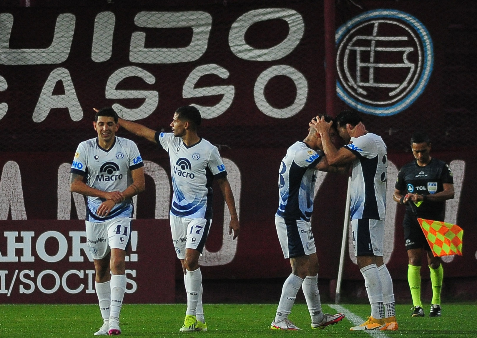
[[[381,136],[367,133],[346,144],[357,158],[351,175],[351,219],[384,219],[387,152]]]

